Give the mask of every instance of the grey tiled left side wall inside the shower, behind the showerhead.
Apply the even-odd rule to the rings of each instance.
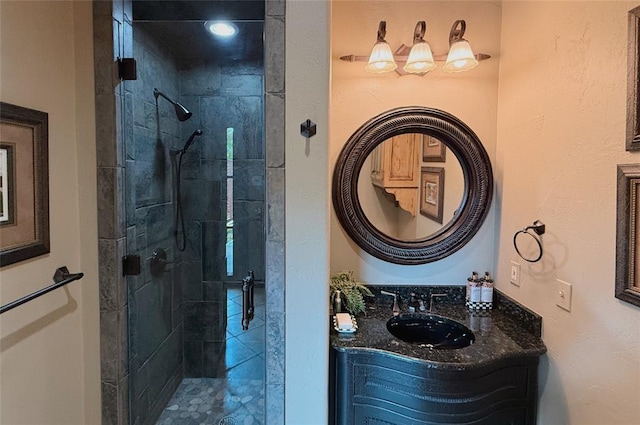
[[[128,276],[130,418],[146,424],[160,414],[183,373],[182,286],[172,265],[150,273],[149,258],[164,249],[175,259],[171,149],[181,141],[182,123],[173,106],[157,101],[153,89],[177,98],[178,63],[140,28],[133,31],[138,78],[125,81],[125,182],[127,252],[142,258],[141,274]]]

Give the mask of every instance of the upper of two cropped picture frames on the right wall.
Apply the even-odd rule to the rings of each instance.
[[[627,43],[627,151],[640,150],[640,6],[629,11]]]

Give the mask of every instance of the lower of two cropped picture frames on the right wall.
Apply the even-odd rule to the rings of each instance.
[[[615,297],[640,306],[640,164],[617,174]]]

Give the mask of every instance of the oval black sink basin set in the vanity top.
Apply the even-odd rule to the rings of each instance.
[[[401,314],[387,321],[387,330],[405,342],[438,349],[471,345],[476,337],[462,323],[433,314]]]

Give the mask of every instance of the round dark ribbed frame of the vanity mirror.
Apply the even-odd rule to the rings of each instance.
[[[358,199],[358,177],[367,156],[383,141],[406,133],[440,139],[462,168],[465,187],[453,220],[437,233],[415,241],[380,232],[365,216]],[[476,134],[460,119],[434,108],[400,107],[373,117],[347,140],[333,172],[333,206],[342,228],[363,250],[395,264],[426,264],[462,248],[477,233],[493,197],[491,160]]]

